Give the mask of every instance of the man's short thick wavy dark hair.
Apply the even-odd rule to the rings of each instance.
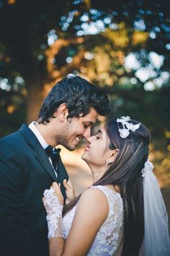
[[[39,123],[49,122],[58,107],[65,103],[68,118],[86,116],[91,108],[98,114],[109,114],[109,100],[104,91],[81,77],[65,77],[56,83],[42,103]]]

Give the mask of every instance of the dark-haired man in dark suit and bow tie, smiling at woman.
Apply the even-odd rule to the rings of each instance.
[[[97,114],[108,113],[102,90],[68,75],[45,98],[37,121],[0,140],[1,256],[48,256],[42,195],[55,181],[66,198],[63,179],[68,180],[54,148],[74,150],[81,138],[89,137]]]

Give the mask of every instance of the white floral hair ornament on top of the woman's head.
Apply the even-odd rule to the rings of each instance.
[[[117,118],[116,120],[117,123],[121,123],[123,127],[122,129],[120,129],[119,127],[120,137],[122,139],[125,139],[126,137],[128,137],[128,135],[130,134],[129,131],[135,132],[135,130],[140,127],[140,123],[139,124],[128,123],[128,121],[130,120],[131,120],[130,116],[122,116],[120,119]]]

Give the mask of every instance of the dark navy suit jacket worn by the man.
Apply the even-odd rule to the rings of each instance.
[[[61,158],[58,181],[45,150],[23,124],[0,140],[0,255],[48,256],[43,192],[68,180]],[[62,186],[63,195],[66,192]]]

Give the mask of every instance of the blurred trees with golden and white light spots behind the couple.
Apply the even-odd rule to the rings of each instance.
[[[108,94],[112,114],[152,135],[151,157],[170,184],[170,5],[144,0],[1,0],[0,136],[37,119],[68,73]]]

